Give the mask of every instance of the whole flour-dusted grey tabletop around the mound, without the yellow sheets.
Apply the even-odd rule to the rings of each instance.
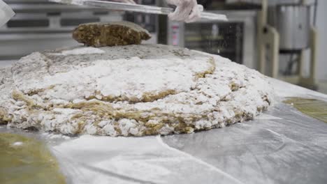
[[[279,98],[288,89],[327,99],[273,84]],[[191,135],[36,134],[57,156],[67,183],[327,183],[327,123],[282,102],[254,121]]]

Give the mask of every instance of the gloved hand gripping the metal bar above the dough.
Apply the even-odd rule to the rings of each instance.
[[[177,8],[168,17],[170,20],[194,22],[200,19],[201,11],[196,0],[166,0],[168,4]]]

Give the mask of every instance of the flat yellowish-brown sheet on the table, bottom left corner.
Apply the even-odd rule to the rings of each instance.
[[[0,183],[63,184],[57,160],[41,141],[0,133]]]

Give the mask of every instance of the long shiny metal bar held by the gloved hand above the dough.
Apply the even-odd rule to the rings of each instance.
[[[106,8],[110,10],[124,10],[124,11],[133,11],[139,13],[151,13],[151,14],[161,14],[168,15],[173,13],[173,8],[163,8],[158,6],[146,6],[140,4],[131,4],[131,3],[117,3],[112,1],[99,1],[99,0],[50,0],[57,3],[66,3],[74,4],[79,6],[92,6],[98,8]],[[201,11],[203,10],[202,6],[199,6]],[[217,21],[227,21],[226,15],[221,15],[217,13],[208,13],[202,12],[201,18],[204,20],[217,20]]]

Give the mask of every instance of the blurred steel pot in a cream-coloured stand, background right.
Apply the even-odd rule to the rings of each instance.
[[[261,16],[258,16],[261,72],[317,89],[317,2],[261,1]],[[309,71],[307,75],[304,75],[305,67]]]

